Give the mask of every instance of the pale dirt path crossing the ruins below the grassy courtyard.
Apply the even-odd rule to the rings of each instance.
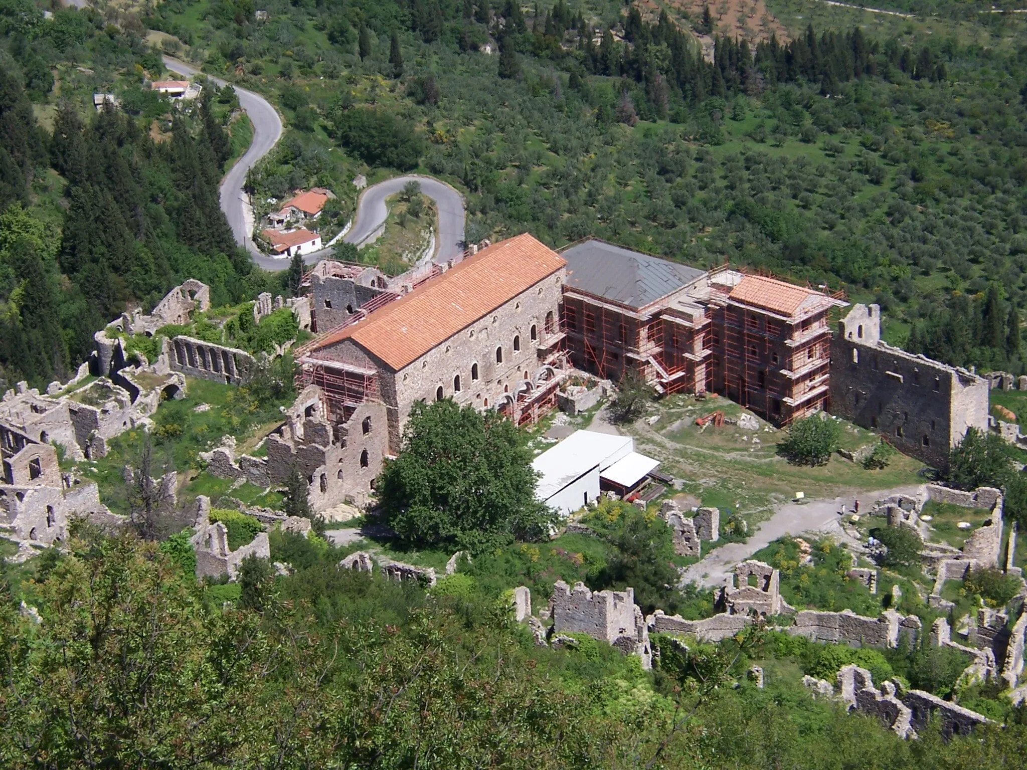
[[[899,487],[881,492],[853,492],[833,499],[809,500],[804,503],[782,503],[774,506],[773,515],[762,522],[753,536],[744,543],[727,543],[714,548],[701,561],[682,571],[682,582],[696,582],[703,586],[721,586],[738,562],[744,562],[753,553],[765,548],[785,535],[816,533],[834,535],[838,539],[847,538],[841,529],[839,511],[844,504],[852,505],[854,499],[870,507],[874,500],[888,495],[915,495],[920,487]]]

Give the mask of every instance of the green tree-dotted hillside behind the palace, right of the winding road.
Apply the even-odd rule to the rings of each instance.
[[[1020,16],[948,3],[930,30],[885,16],[750,47],[715,4],[686,18],[602,0],[271,2],[262,22],[255,7],[172,0],[146,24],[277,93],[293,131],[257,189],[420,167],[469,193],[471,239],[595,234],[764,267],[880,302],[892,341],[1021,369]]]

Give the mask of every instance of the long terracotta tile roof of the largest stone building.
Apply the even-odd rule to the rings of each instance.
[[[566,264],[531,235],[499,241],[366,320],[328,334],[311,352],[350,339],[398,371]]]

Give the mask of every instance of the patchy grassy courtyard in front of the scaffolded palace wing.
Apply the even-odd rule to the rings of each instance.
[[[750,525],[769,515],[775,503],[792,499],[797,492],[807,498],[857,496],[896,487],[922,484],[918,473],[923,464],[896,455],[883,470],[866,470],[835,455],[820,467],[791,465],[776,455],[776,445],[786,436],[782,430],[745,431],[724,424],[706,429],[686,422],[720,410],[736,419],[741,407],[719,396],[697,401],[693,396],[674,395],[653,403],[649,411],[659,420],[649,426],[644,421],[629,426],[636,450],[660,461],[660,470],[683,477],[684,492],[698,497],[703,505],[739,510]],[[877,436],[849,423],[842,423],[841,446],[857,449],[873,444]],[[754,446],[754,438],[759,444]]]

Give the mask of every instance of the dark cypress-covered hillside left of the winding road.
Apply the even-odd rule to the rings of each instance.
[[[74,373],[97,330],[185,278],[218,304],[249,296],[249,258],[218,207],[232,148],[216,89],[173,110],[142,88],[163,71],[142,30],[91,10],[44,20],[6,3],[0,27],[0,389]],[[96,112],[81,90],[105,77],[123,110]]]

